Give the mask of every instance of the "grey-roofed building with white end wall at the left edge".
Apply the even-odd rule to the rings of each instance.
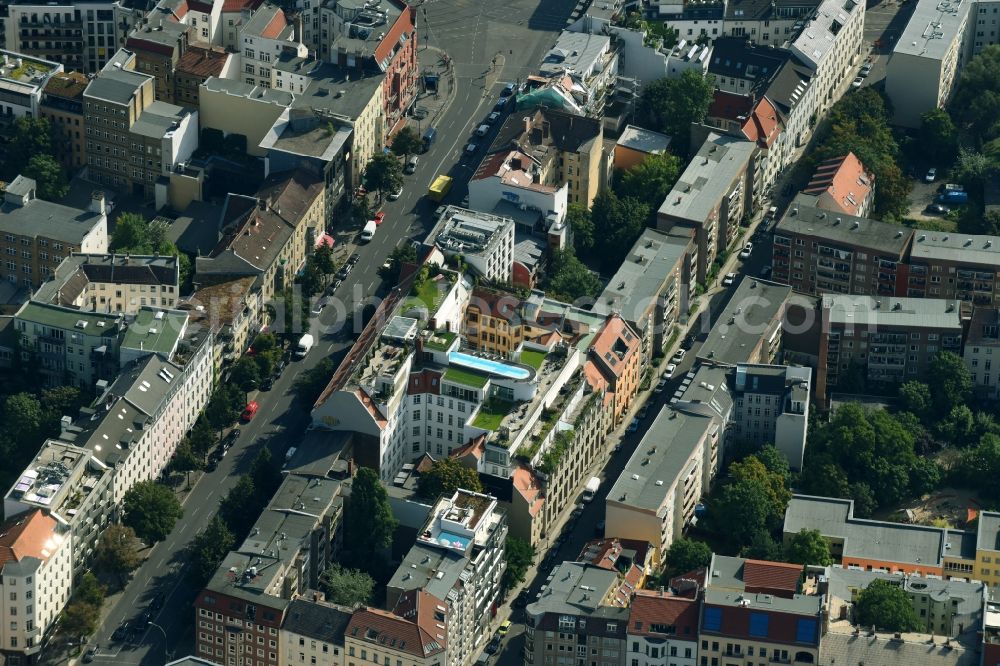
[[[104,193],[90,206],[73,208],[38,198],[35,181],[18,176],[7,185],[0,206],[0,279],[29,290],[51,276],[74,252],[108,251]]]

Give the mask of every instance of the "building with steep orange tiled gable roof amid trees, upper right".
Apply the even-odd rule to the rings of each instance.
[[[875,176],[854,153],[834,157],[816,166],[802,190],[801,201],[836,215],[868,217],[875,201]]]

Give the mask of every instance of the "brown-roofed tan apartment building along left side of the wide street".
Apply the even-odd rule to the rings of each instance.
[[[222,237],[195,259],[201,280],[260,278],[261,300],[270,302],[291,286],[326,229],[323,183],[296,171],[268,179],[256,196],[230,194],[221,221]]]

